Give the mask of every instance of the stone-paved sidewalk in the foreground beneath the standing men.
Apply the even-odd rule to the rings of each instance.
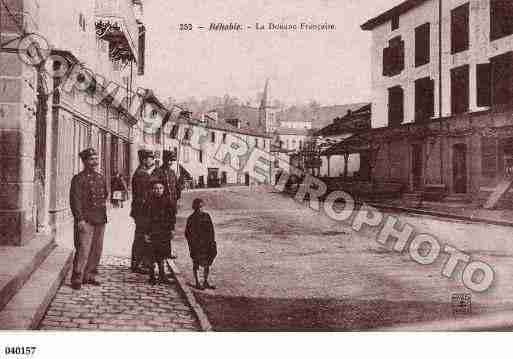
[[[41,330],[198,331],[200,326],[176,282],[147,283],[129,259],[104,256],[100,287],[75,291],[69,275],[41,322]]]

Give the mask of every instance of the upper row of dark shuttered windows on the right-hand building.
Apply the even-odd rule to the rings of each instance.
[[[451,10],[451,53],[469,48],[469,3]],[[392,30],[399,27],[399,17],[392,19]],[[415,67],[430,62],[430,23],[415,28]],[[490,1],[490,41],[513,34],[513,1]],[[404,40],[396,36],[383,49],[383,76],[395,76],[404,70]]]

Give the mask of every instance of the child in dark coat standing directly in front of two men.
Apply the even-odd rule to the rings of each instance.
[[[144,260],[150,268],[150,284],[156,284],[154,264],[159,268],[159,282],[169,283],[164,270],[164,260],[171,258],[171,237],[175,228],[175,207],[164,196],[164,184],[159,178],[152,180],[152,193],[145,206],[143,233],[145,238]]]

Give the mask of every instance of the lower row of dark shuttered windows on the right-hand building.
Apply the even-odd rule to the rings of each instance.
[[[451,69],[451,113],[469,111],[470,66]],[[401,86],[388,89],[389,125],[399,125],[404,118],[404,91]],[[513,51],[492,57],[489,63],[476,65],[477,107],[513,104]],[[434,114],[434,81],[429,77],[415,81],[415,122]]]

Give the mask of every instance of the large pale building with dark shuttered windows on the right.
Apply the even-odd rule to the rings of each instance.
[[[362,25],[375,179],[477,198],[511,172],[512,11],[510,1],[408,0]]]

